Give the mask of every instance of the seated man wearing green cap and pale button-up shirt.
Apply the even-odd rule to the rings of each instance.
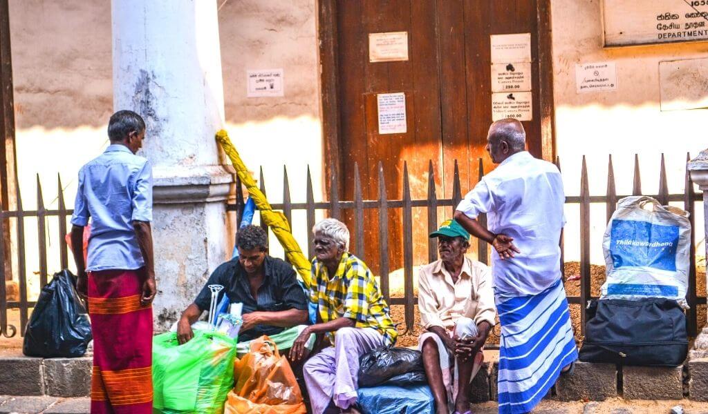
[[[484,361],[481,349],[494,325],[489,268],[464,256],[469,233],[455,220],[438,231],[440,259],[418,276],[418,309],[427,330],[418,339],[438,413],[469,413],[469,386]]]

